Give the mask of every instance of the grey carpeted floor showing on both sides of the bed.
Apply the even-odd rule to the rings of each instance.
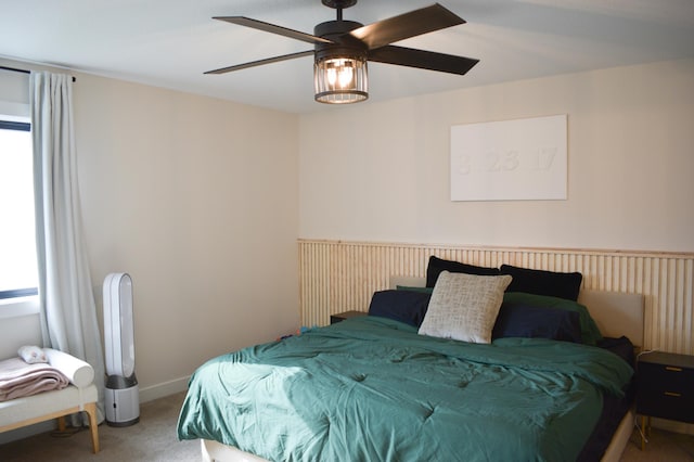
[[[198,441],[176,439],[176,422],[184,394],[145,402],[140,407],[140,422],[129,427],[99,426],[101,451],[91,453],[88,431],[69,437],[50,433],[0,446],[0,461],[136,462],[200,461]],[[694,436],[653,429],[645,451],[641,451],[638,432],[631,436],[622,462],[693,462]]]

